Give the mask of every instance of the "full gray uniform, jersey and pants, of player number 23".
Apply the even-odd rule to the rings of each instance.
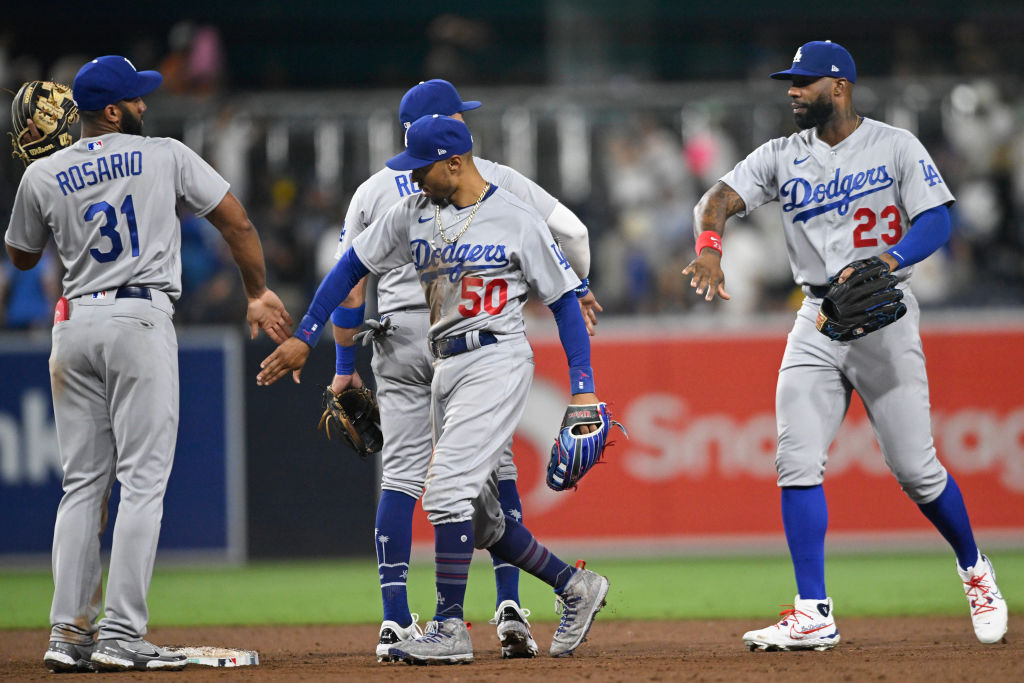
[[[903,239],[911,218],[953,200],[913,135],[870,119],[835,146],[813,129],[770,140],[722,181],[746,212],[779,201],[794,278],[810,286],[824,285],[850,261],[882,254]],[[909,270],[896,274],[906,280]],[[817,331],[820,299],[804,299],[776,387],[778,485],[822,482],[852,386],[906,494],[928,503],[942,493],[946,471],[932,440],[920,310],[908,284],[900,287],[907,314],[845,343]]]

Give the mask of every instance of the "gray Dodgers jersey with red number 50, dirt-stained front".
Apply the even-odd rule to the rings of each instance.
[[[478,211],[477,211],[478,209]],[[449,243],[475,213],[471,227]],[[375,274],[412,264],[430,308],[430,339],[474,330],[524,333],[522,305],[532,290],[550,304],[580,285],[541,215],[492,185],[479,206],[437,209],[413,196],[394,205],[352,243]]]

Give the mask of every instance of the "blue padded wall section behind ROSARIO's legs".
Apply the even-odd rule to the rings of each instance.
[[[244,539],[232,533],[244,514],[231,495],[230,472],[242,472],[230,458],[240,439],[231,437],[227,414],[239,362],[230,333],[183,339],[179,348],[180,423],[174,469],[164,500],[160,550],[241,554]],[[0,555],[49,553],[53,520],[60,501],[60,468],[50,403],[49,344],[45,339],[8,336],[0,340]],[[241,417],[234,418],[237,422]],[[240,488],[242,481],[233,482]],[[103,536],[110,547],[119,484],[111,497],[111,522]],[[233,524],[233,526],[232,526]]]

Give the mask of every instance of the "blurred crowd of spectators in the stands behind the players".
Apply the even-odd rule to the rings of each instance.
[[[456,28],[449,26],[449,31]],[[971,39],[967,35],[959,40]],[[441,34],[438,45],[452,40]],[[42,65],[11,59],[2,48],[0,44],[0,83],[16,87],[44,75]],[[166,47],[143,42],[133,54],[140,69],[157,66],[168,95],[216,102],[223,94],[224,46],[211,26],[176,25]],[[912,54],[908,51],[905,59],[895,62],[884,95],[858,84],[855,104],[866,116],[913,130],[957,199],[952,238],[915,266],[914,291],[923,305],[933,307],[1024,305],[1024,95],[1014,87],[1020,79],[988,76],[992,65],[979,47],[970,51],[972,60],[965,61],[962,73],[937,93],[908,75],[915,69]],[[49,65],[45,75],[70,83],[86,58],[68,55]],[[438,49],[431,58],[446,65],[436,67],[444,72],[438,76],[459,73],[454,48]],[[468,72],[462,75],[472,78]],[[449,77],[464,97],[475,98],[457,77]],[[731,87],[743,90],[744,83]],[[589,226],[591,280],[606,313],[745,315],[796,305],[799,291],[774,205],[733,220],[726,230],[724,267],[731,301],[703,304],[680,274],[692,258],[692,209],[700,195],[757,144],[795,130],[784,114],[784,86],[779,87],[779,92],[752,89],[749,104],[734,106],[731,113],[716,104],[716,86],[709,88],[707,101],[678,110],[655,111],[642,103],[631,110],[625,104],[616,116],[595,117],[583,193],[552,170],[559,158],[538,145],[537,168],[529,169],[530,174]],[[523,90],[528,95],[528,88]],[[755,137],[750,111],[762,103],[758,98],[764,92],[773,96],[773,109],[758,130],[762,136]],[[358,155],[346,146],[343,160],[335,161],[343,168],[325,171],[316,154],[323,143],[319,133],[298,143],[287,133],[275,134],[270,123],[253,113],[226,104],[214,111],[220,114],[206,122],[199,151],[243,200],[262,238],[270,286],[293,315],[301,315],[334,262],[348,199],[374,170],[373,164],[362,153],[360,163],[352,163]],[[467,118],[471,127],[474,117],[485,111]],[[152,111],[146,116],[148,121],[159,115]],[[394,128],[394,143],[399,144],[396,121]],[[155,134],[180,132],[172,126]],[[488,139],[476,128],[474,133],[492,142],[488,159],[508,161],[503,157],[507,147],[493,143],[494,136]],[[200,139],[180,136],[186,143]],[[254,142],[257,138],[265,150]],[[20,166],[9,163],[5,169],[0,211],[9,215]],[[188,214],[181,216],[181,232],[183,295],[176,321],[237,324],[245,298],[223,241],[208,221]],[[53,254],[29,272],[17,271],[0,256],[0,328],[49,327],[60,275]]]

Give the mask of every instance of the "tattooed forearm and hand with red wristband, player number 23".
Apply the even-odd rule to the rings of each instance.
[[[725,291],[725,273],[722,272],[722,233],[725,221],[744,209],[743,200],[721,180],[705,193],[693,209],[693,234],[696,237],[697,257],[683,268],[684,275],[691,275],[690,287],[697,294],[705,294],[711,301],[717,294],[723,299],[731,297]]]

